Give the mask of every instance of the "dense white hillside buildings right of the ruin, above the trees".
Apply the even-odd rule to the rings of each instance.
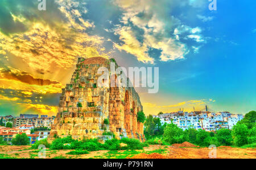
[[[164,123],[174,123],[186,130],[188,128],[203,129],[205,131],[216,131],[220,128],[232,129],[238,121],[243,119],[242,114],[232,114],[228,111],[213,113],[210,111],[176,111],[154,116]]]

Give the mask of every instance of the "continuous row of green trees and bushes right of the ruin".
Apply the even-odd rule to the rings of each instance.
[[[208,132],[202,129],[189,128],[183,131],[173,123],[162,127],[159,120],[149,115],[144,123],[144,134],[148,144],[174,144],[185,141],[197,146],[255,147],[256,143],[256,112],[250,111],[232,130],[221,128],[216,132]],[[163,136],[161,135],[163,133]]]

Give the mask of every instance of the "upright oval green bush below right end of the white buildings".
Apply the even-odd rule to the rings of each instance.
[[[243,146],[248,143],[249,130],[245,124],[237,124],[232,128],[232,138],[235,146]]]

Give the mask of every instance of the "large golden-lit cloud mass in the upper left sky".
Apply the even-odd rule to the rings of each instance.
[[[102,53],[103,38],[86,33],[94,25],[81,17],[86,13],[85,1],[47,1],[46,11],[38,10],[37,1],[1,3],[0,11],[5,13],[0,19],[0,55],[18,57],[41,74],[53,67],[71,68],[77,56],[108,57]]]

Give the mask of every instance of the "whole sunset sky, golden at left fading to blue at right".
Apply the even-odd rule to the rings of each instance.
[[[135,88],[146,115],[256,109],[256,2],[0,1],[0,115],[56,115],[77,57],[158,67],[159,91]]]

